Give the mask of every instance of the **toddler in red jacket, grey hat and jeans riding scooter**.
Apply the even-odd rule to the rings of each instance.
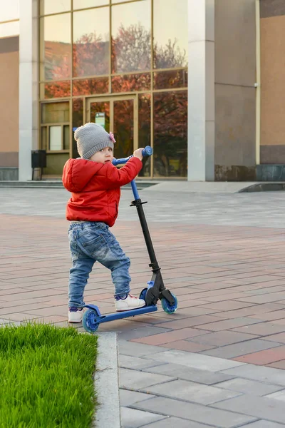
[[[96,260],[111,271],[115,310],[145,306],[145,300],[130,294],[130,259],[109,230],[118,216],[120,186],[130,183],[142,168],[142,148],[118,169],[112,163],[113,133],[86,123],[76,129],[74,138],[81,158],[69,159],[63,168],[63,185],[72,193],[66,207],[72,259],[68,322],[81,322],[83,293]]]

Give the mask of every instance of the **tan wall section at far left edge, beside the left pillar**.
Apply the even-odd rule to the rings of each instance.
[[[19,36],[0,39],[0,167],[18,167]]]

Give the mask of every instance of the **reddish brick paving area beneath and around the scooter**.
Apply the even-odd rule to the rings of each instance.
[[[66,220],[0,215],[0,323],[36,320],[66,325],[68,250]],[[132,261],[132,292],[150,280],[140,226],[113,228]],[[284,230],[150,223],[165,285],[177,312],[100,326],[133,342],[201,352],[285,369]],[[108,270],[95,265],[86,302],[113,312]]]

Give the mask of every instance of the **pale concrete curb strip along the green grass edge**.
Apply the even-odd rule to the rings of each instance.
[[[98,333],[97,370],[94,382],[98,410],[92,427],[120,428],[117,333]]]

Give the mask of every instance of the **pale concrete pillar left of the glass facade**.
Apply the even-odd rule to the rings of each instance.
[[[26,181],[38,148],[38,0],[19,4],[19,180]]]

